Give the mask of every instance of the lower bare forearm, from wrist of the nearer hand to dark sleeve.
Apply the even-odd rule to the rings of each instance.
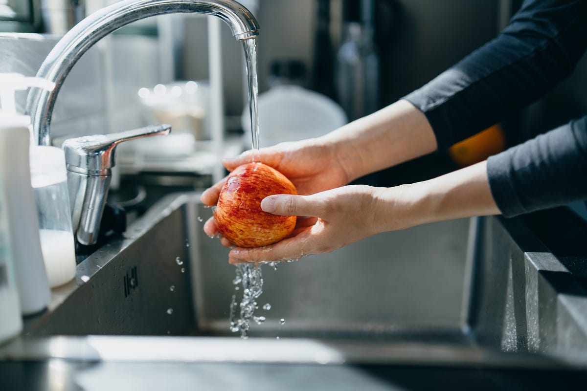
[[[485,161],[429,181],[383,189],[376,198],[375,232],[500,214],[491,195]]]

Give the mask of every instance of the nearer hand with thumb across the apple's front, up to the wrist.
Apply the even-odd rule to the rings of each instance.
[[[375,225],[377,195],[383,188],[343,186],[308,196],[274,195],[261,209],[274,215],[298,217],[292,236],[269,246],[232,249],[229,262],[296,260],[326,253],[379,232]]]

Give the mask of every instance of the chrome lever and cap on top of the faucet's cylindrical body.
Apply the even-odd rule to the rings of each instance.
[[[69,170],[73,168],[74,171],[81,170],[90,175],[108,175],[115,164],[116,145],[123,141],[167,135],[170,132],[171,125],[149,125],[123,132],[69,138],[63,142],[62,148]]]

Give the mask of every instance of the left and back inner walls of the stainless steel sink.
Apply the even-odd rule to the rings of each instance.
[[[234,335],[239,294],[228,249],[203,232],[197,193],[173,195],[77,267],[33,335]],[[202,220],[200,222],[200,220]],[[294,263],[262,266],[271,310],[251,336],[457,338],[463,335],[468,220],[384,233]],[[281,324],[279,319],[284,318]]]

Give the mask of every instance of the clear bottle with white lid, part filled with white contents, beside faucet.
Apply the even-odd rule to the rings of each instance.
[[[31,182],[39,215],[41,250],[50,287],[75,277],[75,243],[65,155],[60,148],[31,148]]]

